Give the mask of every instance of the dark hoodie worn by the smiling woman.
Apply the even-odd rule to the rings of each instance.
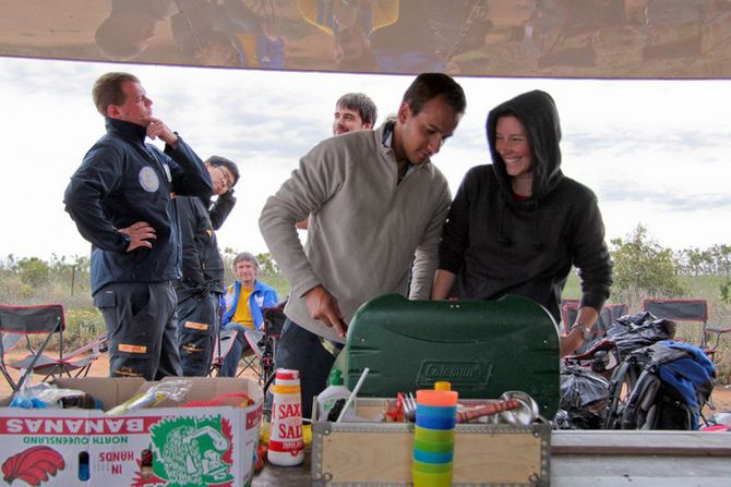
[[[532,195],[518,200],[495,125],[517,118],[530,142]],[[488,114],[494,163],[470,169],[452,203],[440,245],[440,269],[457,275],[451,295],[493,300],[530,297],[561,320],[561,292],[572,266],[579,270],[580,304],[601,309],[612,283],[612,264],[597,198],[561,172],[561,125],[553,99],[543,92],[519,95]]]

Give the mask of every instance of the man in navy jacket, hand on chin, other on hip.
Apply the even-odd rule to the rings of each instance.
[[[176,293],[182,253],[176,194],[211,197],[201,159],[159,119],[140,80],[106,73],[94,104],[107,134],[88,150],[64,193],[67,211],[92,243],[92,294],[109,334],[112,377],[179,376]],[[165,153],[145,137],[160,138]]]

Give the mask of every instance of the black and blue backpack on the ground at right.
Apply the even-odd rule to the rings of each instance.
[[[660,341],[635,352],[609,386],[606,429],[698,429],[716,367],[697,346]]]

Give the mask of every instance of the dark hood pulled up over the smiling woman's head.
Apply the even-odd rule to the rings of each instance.
[[[528,134],[534,172],[532,197],[538,199],[553,190],[562,178],[559,111],[551,95],[536,89],[518,95],[488,113],[486,130],[495,173],[503,192],[512,194],[505,161],[495,150],[495,126],[503,115],[518,119]]]

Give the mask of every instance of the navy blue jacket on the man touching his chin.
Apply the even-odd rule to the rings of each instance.
[[[79,232],[92,243],[92,294],[111,282],[179,279],[182,252],[173,191],[209,198],[212,183],[201,159],[181,139],[165,154],[145,144],[145,127],[106,119],[107,134],[71,176],[63,200]],[[117,229],[137,221],[156,231],[152,248],[128,253]]]

